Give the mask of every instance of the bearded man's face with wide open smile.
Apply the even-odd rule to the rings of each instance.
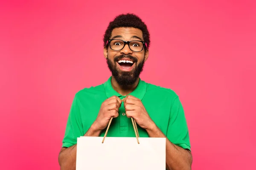
[[[124,27],[114,28],[110,39],[144,41],[143,33],[140,29]],[[121,45],[121,43],[116,42],[115,45]],[[134,46],[137,45],[134,44]],[[113,48],[113,45],[111,45],[111,47]],[[108,45],[108,49],[104,48],[108,68],[119,85],[128,86],[136,82],[143,70],[144,62],[148,58],[148,50],[144,48],[140,52],[131,51],[128,45],[125,45],[125,47],[119,51],[113,51],[110,45]]]

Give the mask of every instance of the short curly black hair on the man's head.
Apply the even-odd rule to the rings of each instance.
[[[120,28],[120,27],[133,27],[133,28],[140,29],[143,34],[143,40],[147,43],[147,46],[149,47],[150,34],[147,26],[140,19],[140,17],[138,17],[135,14],[128,13],[128,14],[120,14],[116,16],[115,19],[109,23],[103,38],[105,48],[108,48],[108,45],[106,45],[106,42],[110,39],[113,29]]]

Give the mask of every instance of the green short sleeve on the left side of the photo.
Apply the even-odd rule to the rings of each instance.
[[[77,137],[83,136],[83,127],[79,112],[79,100],[77,95],[74,97],[70,113],[67,119],[62,147],[70,147],[77,143]]]

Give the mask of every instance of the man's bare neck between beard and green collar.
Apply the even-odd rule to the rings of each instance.
[[[135,88],[136,88],[137,85],[139,84],[139,80],[140,80],[140,78],[138,78],[138,79],[136,80],[136,82],[135,82],[134,84],[132,84],[132,85],[121,86],[121,85],[119,85],[119,84],[116,82],[116,79],[112,76],[112,78],[111,78],[111,85],[112,85],[113,89],[114,89],[117,93],[121,94],[122,96],[126,96],[126,95],[130,94],[132,91],[135,90]]]

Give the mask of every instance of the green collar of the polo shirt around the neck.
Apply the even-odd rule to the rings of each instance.
[[[104,87],[105,87],[105,93],[107,95],[108,98],[110,98],[111,96],[118,96],[118,97],[122,97],[121,94],[117,93],[112,85],[111,85],[111,77],[109,77],[109,79],[104,83]],[[135,88],[134,91],[132,91],[130,94],[131,96],[137,97],[138,99],[142,100],[145,92],[146,92],[146,82],[142,81],[141,79],[139,79],[139,83],[137,85],[137,87]],[[125,96],[124,96],[125,97]]]

